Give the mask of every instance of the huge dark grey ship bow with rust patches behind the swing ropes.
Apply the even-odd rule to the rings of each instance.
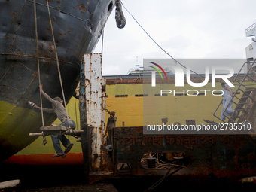
[[[56,50],[66,102],[77,87],[81,57],[99,40],[114,1],[51,1]],[[61,96],[47,2],[36,1],[41,84],[50,96]],[[0,160],[25,148],[42,125],[41,114],[28,100],[40,105],[33,1],[0,3]],[[51,108],[43,98],[44,108]],[[44,114],[44,124],[56,120]]]

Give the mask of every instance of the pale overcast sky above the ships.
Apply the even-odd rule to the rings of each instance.
[[[256,23],[255,0],[122,0],[124,7],[175,59],[245,59]],[[102,52],[102,75],[127,75],[143,59],[169,59],[123,9],[126,26],[118,29],[115,8],[94,53]],[[102,50],[103,42],[103,50]],[[203,73],[204,66],[187,63]],[[241,63],[242,66],[242,63]],[[241,67],[233,66],[235,72]]]

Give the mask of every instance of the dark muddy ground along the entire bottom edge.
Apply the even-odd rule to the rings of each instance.
[[[151,187],[159,178],[115,178],[97,181],[89,184],[88,176],[84,174],[83,165],[76,166],[20,166],[0,163],[0,182],[20,179],[20,185],[11,189],[0,190],[9,191],[88,191],[88,192],[142,192]],[[181,180],[181,181],[180,181]],[[166,178],[159,186],[151,191],[172,191],[176,187],[180,190],[209,190],[223,189],[229,190],[250,190],[256,184],[227,184],[226,181],[199,181],[187,184],[184,179],[175,181],[172,176]],[[186,183],[186,184],[185,184]]]

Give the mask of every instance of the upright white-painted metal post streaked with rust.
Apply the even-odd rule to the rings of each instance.
[[[81,119],[87,127],[84,127],[88,141],[83,146],[86,160],[85,166],[93,172],[112,171],[111,159],[104,146],[105,142],[105,78],[102,78],[102,55],[91,53],[84,55],[83,69],[81,73]],[[82,141],[84,143],[84,141]],[[84,149],[86,149],[84,151]],[[86,162],[88,161],[88,162]],[[95,174],[93,174],[95,175]]]

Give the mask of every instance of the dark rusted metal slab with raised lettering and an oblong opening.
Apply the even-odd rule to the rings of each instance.
[[[184,152],[189,157],[189,164],[172,175],[172,178],[187,178],[187,181],[225,178],[227,181],[239,181],[239,178],[256,174],[255,147],[254,139],[248,135],[143,135],[143,127],[118,127],[114,130],[114,172],[108,172],[108,176],[90,175],[90,182],[106,177],[165,175],[166,169],[147,169],[142,166],[141,158],[149,151]],[[120,172],[118,163],[129,163],[131,169]]]

